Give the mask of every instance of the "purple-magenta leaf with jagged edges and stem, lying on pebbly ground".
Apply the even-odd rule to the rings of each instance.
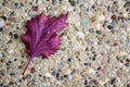
[[[56,52],[61,44],[60,36],[56,33],[68,25],[66,20],[67,14],[61,14],[58,18],[40,14],[27,22],[28,30],[22,38],[26,45],[29,60],[23,75],[32,58],[42,55],[48,59]]]

